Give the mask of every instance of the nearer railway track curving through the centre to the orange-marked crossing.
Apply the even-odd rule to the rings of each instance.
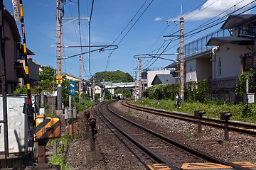
[[[112,102],[100,103],[94,106],[92,110],[99,117],[103,116],[116,130],[142,149],[155,162],[167,164],[171,169],[179,169],[184,162],[202,162],[202,159],[204,159],[203,162],[224,164],[233,167],[233,169],[244,169],[237,164],[225,162],[187,147],[169,137],[164,137],[158,132],[144,128],[143,125],[124,118],[114,111]]]

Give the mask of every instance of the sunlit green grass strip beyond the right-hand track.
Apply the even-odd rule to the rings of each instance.
[[[142,101],[134,102],[136,104],[164,109],[166,111],[178,111],[183,113],[194,114],[195,110],[205,111],[205,116],[209,118],[218,118],[220,119],[220,112],[228,112],[233,116],[230,120],[238,120],[248,123],[256,123],[256,105],[255,103],[250,103],[247,107],[247,104],[231,104],[224,101],[210,101],[208,103],[200,102],[187,102],[185,101],[184,106],[179,108],[175,105],[175,101],[172,100],[153,100],[149,98],[142,98]]]

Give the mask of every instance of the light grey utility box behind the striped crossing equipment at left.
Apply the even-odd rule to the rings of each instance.
[[[28,119],[23,112],[26,96],[7,96],[7,121],[9,153],[28,152]],[[32,103],[38,103],[38,96],[32,96]],[[0,120],[4,120],[3,98],[0,96]],[[0,123],[0,152],[4,151],[4,123]]]

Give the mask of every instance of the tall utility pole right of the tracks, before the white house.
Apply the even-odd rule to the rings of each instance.
[[[181,6],[182,14],[182,6]],[[180,18],[180,98],[181,106],[184,105],[184,18]]]

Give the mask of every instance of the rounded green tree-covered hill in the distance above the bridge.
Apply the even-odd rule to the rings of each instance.
[[[133,78],[129,73],[124,73],[120,70],[114,72],[97,72],[95,73],[96,81],[117,81],[117,82],[132,82]],[[91,78],[92,81],[92,78]]]

